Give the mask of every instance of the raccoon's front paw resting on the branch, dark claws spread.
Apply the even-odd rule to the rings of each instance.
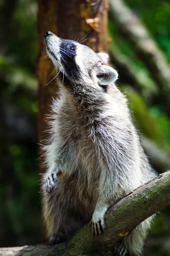
[[[94,236],[101,236],[106,229],[105,215],[107,212],[107,207],[100,207],[95,209],[92,215],[92,221],[90,226],[92,227],[92,233]]]

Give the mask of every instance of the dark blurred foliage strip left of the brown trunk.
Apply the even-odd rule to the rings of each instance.
[[[9,12],[7,2],[2,2],[1,6],[5,6],[4,12]],[[0,90],[4,105],[0,111],[4,115],[12,111],[14,116],[14,119],[9,114],[5,116],[10,128],[3,131],[7,133],[5,137],[9,137],[6,157],[11,159],[11,163],[10,170],[8,166],[3,169],[2,183],[9,180],[7,184],[12,194],[9,192],[6,195],[6,186],[0,187],[0,207],[5,210],[0,214],[0,246],[34,244],[41,240],[35,76],[37,2],[16,0],[8,22],[9,27],[3,26],[4,41],[1,42],[4,50],[0,55]],[[16,133],[18,128],[20,137]],[[6,177],[6,172],[9,172],[11,179]],[[9,237],[10,241],[8,233],[13,234],[11,239]]]

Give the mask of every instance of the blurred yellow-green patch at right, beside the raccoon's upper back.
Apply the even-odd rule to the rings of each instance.
[[[141,95],[133,87],[121,86],[129,99],[129,106],[137,128],[160,147],[170,151],[169,127],[170,122],[159,108],[148,108]],[[168,139],[168,140],[167,140]]]

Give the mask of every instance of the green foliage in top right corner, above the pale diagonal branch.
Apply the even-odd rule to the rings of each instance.
[[[150,34],[170,60],[170,2],[167,0],[126,0],[125,2],[146,24]]]

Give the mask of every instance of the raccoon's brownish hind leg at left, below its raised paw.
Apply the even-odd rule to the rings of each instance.
[[[43,221],[46,227],[46,237],[50,243],[56,244],[69,240],[71,236],[85,224],[74,201],[76,196],[70,195],[68,187],[63,186],[60,180],[50,193],[43,186]]]

